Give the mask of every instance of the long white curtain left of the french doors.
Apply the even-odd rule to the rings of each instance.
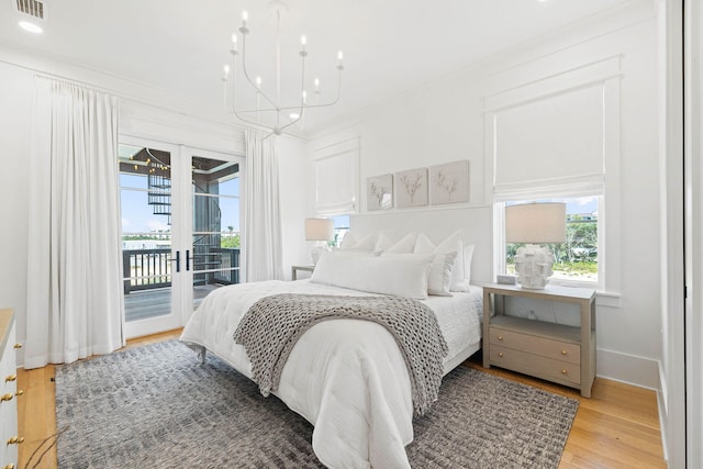
[[[116,99],[36,77],[25,368],[123,345]]]

